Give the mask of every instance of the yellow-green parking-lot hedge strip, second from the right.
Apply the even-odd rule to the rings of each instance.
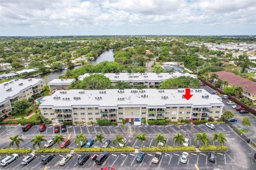
[[[177,151],[196,151],[196,147],[154,147],[154,148],[141,148],[143,152],[177,152]]]

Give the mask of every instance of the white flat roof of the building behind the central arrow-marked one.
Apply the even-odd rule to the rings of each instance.
[[[171,78],[177,78],[180,76],[189,76],[196,78],[196,75],[189,73],[85,73],[78,77],[79,80],[83,80],[85,77],[89,77],[92,74],[102,74],[109,78],[111,82],[118,80],[121,81],[165,81]]]

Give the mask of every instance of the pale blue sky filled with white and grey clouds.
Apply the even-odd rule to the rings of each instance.
[[[256,35],[256,0],[0,0],[0,36]]]

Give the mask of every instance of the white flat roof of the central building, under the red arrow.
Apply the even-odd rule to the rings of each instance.
[[[185,89],[179,89],[180,91]],[[202,90],[196,92],[196,90]],[[118,92],[119,91],[119,92]],[[121,92],[120,92],[121,91]],[[136,91],[136,92],[133,92]],[[144,92],[145,91],[145,92]],[[162,92],[161,92],[162,91]],[[185,92],[178,89],[107,89],[107,90],[58,90],[52,96],[44,97],[39,106],[55,109],[71,107],[172,107],[172,106],[223,106],[220,97],[204,89],[194,89],[189,100],[182,98]],[[208,96],[202,98],[202,96]],[[67,99],[66,99],[67,98]],[[74,99],[76,98],[76,99]],[[118,99],[119,98],[119,99]]]

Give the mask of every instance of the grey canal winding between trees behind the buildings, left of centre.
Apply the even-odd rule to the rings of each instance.
[[[96,65],[103,61],[114,61],[113,49],[110,49],[107,52],[102,53],[101,55],[99,55],[99,57],[96,60],[92,61],[91,63],[93,65]],[[75,70],[79,67],[81,67],[81,65],[69,68],[69,70]],[[46,81],[48,83],[48,82],[52,81],[53,79],[59,79],[59,76],[65,74],[66,71],[67,71],[67,69],[66,70],[57,70],[57,71],[50,72],[50,73],[40,74],[40,75],[36,76],[35,78],[44,79],[44,75],[46,75],[47,76]]]

